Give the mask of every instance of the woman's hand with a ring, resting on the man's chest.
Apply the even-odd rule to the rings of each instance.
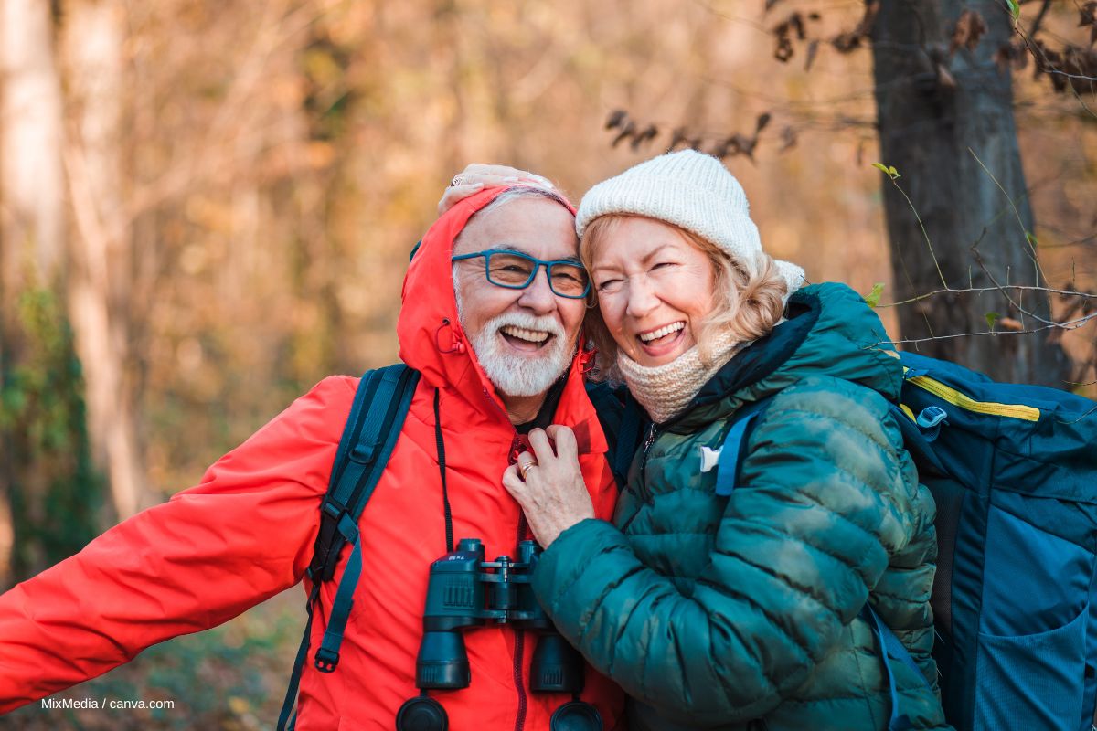
[[[555,450],[548,439],[555,442]],[[518,464],[502,473],[502,486],[522,506],[533,537],[542,548],[548,548],[564,530],[595,517],[595,506],[583,481],[579,449],[570,429],[559,424],[535,429],[530,432],[530,446],[533,454],[518,455]],[[521,467],[525,465],[532,467],[522,480]]]

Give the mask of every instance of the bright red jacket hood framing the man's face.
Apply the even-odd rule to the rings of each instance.
[[[508,189],[493,187],[480,191],[453,206],[430,227],[404,277],[400,293],[403,306],[396,324],[400,359],[419,370],[427,384],[436,388],[453,389],[474,406],[482,407],[486,395],[498,407],[498,413],[504,419],[506,409],[502,401],[476,359],[457,321],[451,258],[454,241],[473,215],[506,190]],[[570,203],[567,208],[575,215],[575,207]],[[576,389],[584,389],[584,370],[592,357],[592,353],[585,347],[578,349],[568,373],[561,409],[557,411],[558,423],[576,426],[593,414],[585,396],[579,400],[586,402],[586,409],[578,408],[581,404],[576,403]],[[589,448],[604,452],[607,447],[601,430],[591,430],[591,436],[593,434],[598,434],[598,438],[588,445]],[[583,435],[577,432],[577,437],[581,446]]]

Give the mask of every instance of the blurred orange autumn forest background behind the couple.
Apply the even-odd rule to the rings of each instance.
[[[1039,379],[1093,396],[1095,12],[0,0],[0,587],[194,484],[325,375],[393,362],[408,252],[468,162],[536,171],[578,202],[671,146],[722,155],[768,250],[872,293],[892,338],[923,341],[904,346],[1065,352]],[[918,68],[889,80],[889,64]],[[896,105],[903,89],[917,93]],[[959,110],[969,141],[951,151],[895,125],[986,89],[998,106]],[[953,292],[887,307],[940,288],[913,210]],[[975,243],[1038,251],[1028,285],[1067,294],[1041,310],[1040,292],[1005,290],[1018,267],[984,266]],[[269,727],[303,599],[64,694],[173,710],[32,705],[0,727]]]

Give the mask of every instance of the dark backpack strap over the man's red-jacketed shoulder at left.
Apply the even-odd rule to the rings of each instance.
[[[331,580],[339,562],[339,553],[349,542],[352,545],[351,555],[336,592],[324,641],[315,658],[316,669],[324,673],[330,673],[339,664],[339,647],[353,605],[354,589],[362,572],[358,519],[396,447],[418,382],[419,373],[400,363],[367,372],[362,376],[354,393],[350,416],[331,467],[328,491],[320,505],[320,529],[313,560],[306,570],[313,582],[306,606],[308,621],[279,716],[279,731],[286,728],[287,721],[290,728],[293,728],[296,720],[296,715],[290,720],[290,712],[297,698],[297,686],[308,654],[313,610],[319,597],[319,587],[325,581]]]

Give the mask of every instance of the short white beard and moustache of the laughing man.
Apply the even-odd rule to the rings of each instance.
[[[461,296],[457,296],[457,319],[464,327]],[[540,353],[529,356],[507,353],[499,330],[506,325],[542,330],[554,335]],[[550,317],[533,317],[508,312],[488,320],[472,338],[473,352],[488,380],[506,396],[540,396],[563,376],[575,358],[575,344],[568,343],[563,328]]]

